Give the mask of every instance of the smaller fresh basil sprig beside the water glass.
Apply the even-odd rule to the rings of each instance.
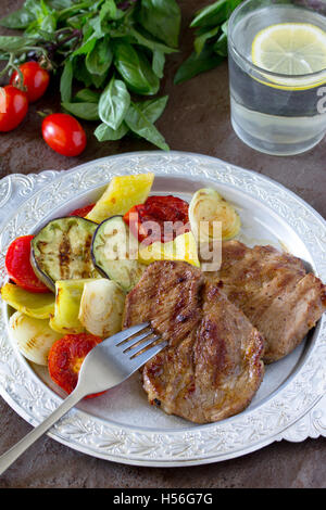
[[[217,0],[197,12],[190,23],[195,28],[193,51],[177,69],[175,84],[213,69],[224,61],[227,56],[228,18],[241,1]]]

